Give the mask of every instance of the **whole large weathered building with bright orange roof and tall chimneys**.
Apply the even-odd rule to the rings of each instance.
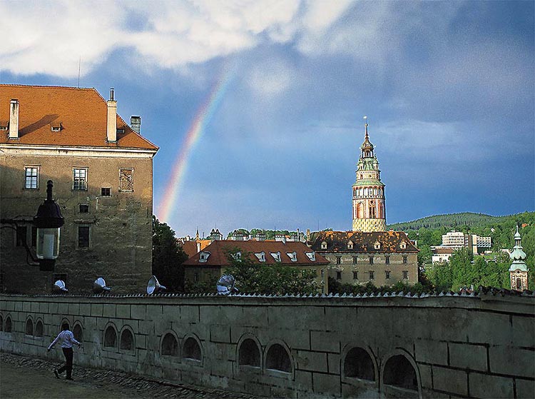
[[[95,89],[0,85],[0,215],[17,226],[0,231],[4,291],[48,293],[61,279],[87,293],[99,276],[118,293],[145,288],[158,147],[139,133],[141,118],[128,126],[116,109],[113,90],[106,101]],[[65,219],[53,272],[29,266],[23,246],[36,244],[48,180]]]

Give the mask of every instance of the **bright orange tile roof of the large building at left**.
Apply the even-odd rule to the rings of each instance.
[[[121,116],[117,128],[124,133],[108,143],[108,106],[96,89],[0,84],[0,121],[9,121],[11,99],[19,100],[19,140],[9,140],[9,132],[1,131],[0,143],[158,150]],[[61,131],[51,131],[51,126],[61,126]]]

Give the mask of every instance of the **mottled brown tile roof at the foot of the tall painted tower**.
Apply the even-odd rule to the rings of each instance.
[[[327,243],[327,249],[322,249],[322,242]],[[348,248],[352,242],[353,248]],[[379,243],[378,249],[375,243]],[[401,248],[405,243],[405,248]],[[418,252],[418,248],[402,231],[317,231],[310,235],[310,248],[320,253],[350,252],[350,253],[392,253]]]

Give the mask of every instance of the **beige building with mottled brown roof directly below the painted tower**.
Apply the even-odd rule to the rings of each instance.
[[[418,249],[400,231],[319,231],[308,245],[330,261],[329,277],[342,284],[392,286],[418,282]]]

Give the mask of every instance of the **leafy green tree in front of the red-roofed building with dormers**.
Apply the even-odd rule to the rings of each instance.
[[[285,294],[317,293],[315,271],[302,270],[278,264],[258,264],[253,254],[233,248],[227,253],[230,266],[225,273],[231,274],[240,293]]]

